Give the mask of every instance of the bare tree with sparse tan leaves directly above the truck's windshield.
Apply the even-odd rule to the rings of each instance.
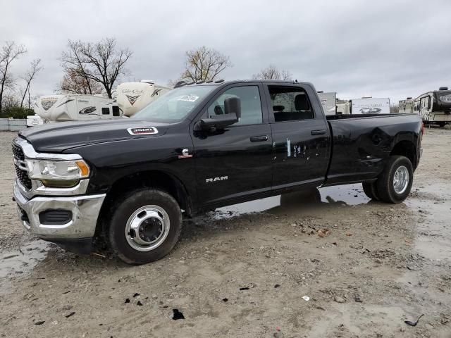
[[[202,46],[186,52],[185,71],[180,80],[208,81],[214,80],[223,70],[232,67],[230,58],[216,49]]]

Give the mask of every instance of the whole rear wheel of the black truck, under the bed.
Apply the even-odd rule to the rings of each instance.
[[[378,196],[386,203],[401,203],[410,193],[414,168],[405,156],[390,156],[376,182]]]

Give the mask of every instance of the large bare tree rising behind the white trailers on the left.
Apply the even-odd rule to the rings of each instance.
[[[116,39],[106,38],[100,42],[73,42],[69,40],[68,51],[61,54],[61,62],[65,70],[71,70],[85,79],[92,94],[89,80],[103,85],[106,94],[111,98],[113,84],[120,75],[125,75],[125,63],[132,56],[129,49],[116,48]]]

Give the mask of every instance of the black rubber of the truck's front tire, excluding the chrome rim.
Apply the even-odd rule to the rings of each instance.
[[[169,230],[166,239],[163,239],[161,244],[155,249],[149,251],[134,249],[125,235],[128,221],[132,219],[136,211],[144,206],[156,206],[163,209],[169,220]],[[125,263],[140,265],[157,261],[166,256],[177,243],[181,230],[182,213],[173,196],[159,189],[143,188],[125,194],[111,206],[111,219],[109,226],[106,227],[107,233],[105,237],[108,239],[109,247],[114,256],[117,256]]]

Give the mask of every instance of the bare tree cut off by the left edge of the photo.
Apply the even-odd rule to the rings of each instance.
[[[10,73],[11,63],[27,53],[25,46],[8,41],[0,51],[0,111],[6,89],[13,89],[14,78]]]

